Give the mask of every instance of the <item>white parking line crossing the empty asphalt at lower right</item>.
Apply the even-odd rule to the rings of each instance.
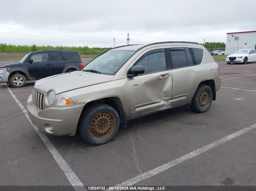
[[[218,141],[215,141],[215,142],[213,142],[213,143],[211,143],[209,145],[206,145],[206,146],[204,146],[202,148],[199,148],[199,149],[197,149],[195,151],[192,151],[191,153],[188,153],[188,154],[186,154],[186,155],[184,155],[184,156],[182,156],[180,158],[177,158],[177,159],[175,159],[175,160],[173,160],[171,162],[163,164],[160,167],[156,167],[156,168],[154,168],[152,170],[149,170],[148,172],[145,172],[143,174],[138,175],[137,177],[134,177],[134,178],[131,178],[130,180],[122,182],[122,183],[120,183],[120,184],[118,184],[116,186],[132,186],[132,185],[140,182],[141,180],[145,180],[145,179],[147,179],[149,177],[152,177],[152,176],[154,176],[154,175],[156,175],[158,173],[161,173],[161,172],[163,172],[163,171],[165,171],[165,170],[167,170],[167,169],[169,169],[169,168],[171,168],[171,167],[173,167],[173,166],[175,166],[177,164],[180,164],[180,163],[182,163],[182,162],[184,162],[184,161],[186,161],[186,160],[188,160],[190,158],[193,158],[193,157],[197,156],[198,154],[201,154],[201,153],[203,153],[205,151],[208,151],[208,150],[210,150],[210,149],[212,149],[214,147],[217,147],[218,145],[220,145],[220,144],[222,144],[222,143],[224,143],[226,141],[229,141],[229,140],[231,140],[231,139],[233,139],[233,138],[235,138],[235,137],[237,137],[239,135],[242,135],[245,132],[248,132],[248,131],[250,131],[251,129],[254,129],[254,128],[256,128],[256,123],[251,125],[251,126],[248,126],[248,127],[244,128],[244,129],[242,129],[240,131],[237,131],[237,132],[235,132],[235,133],[233,133],[231,135],[228,135],[228,136],[226,136],[224,138],[221,138]]]

